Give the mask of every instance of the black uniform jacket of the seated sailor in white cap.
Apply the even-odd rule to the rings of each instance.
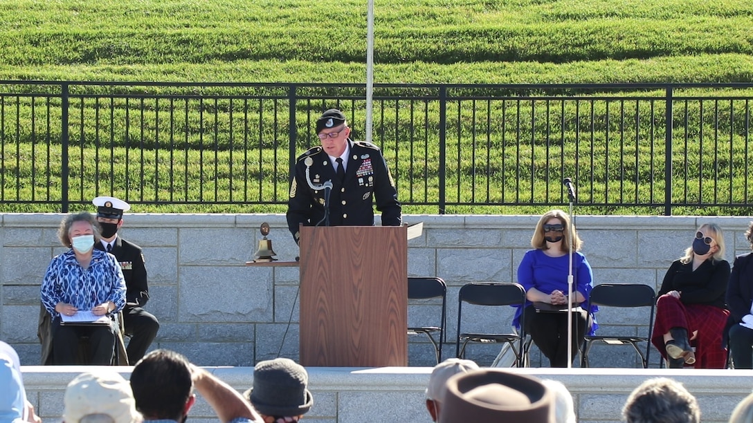
[[[94,247],[105,251],[102,242],[96,242]],[[143,307],[149,300],[149,288],[142,248],[117,236],[110,253],[120,262],[123,278],[126,279],[126,309],[133,308],[134,304]]]

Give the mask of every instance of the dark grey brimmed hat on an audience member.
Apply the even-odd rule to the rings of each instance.
[[[261,414],[294,417],[308,412],[314,403],[308,384],[303,366],[289,358],[276,358],[254,367],[253,387],[243,396]]]

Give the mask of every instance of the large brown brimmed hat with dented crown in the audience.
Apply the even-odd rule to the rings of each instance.
[[[555,397],[541,381],[505,370],[475,370],[447,380],[439,423],[554,421]]]

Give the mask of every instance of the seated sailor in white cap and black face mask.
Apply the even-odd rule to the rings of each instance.
[[[139,245],[117,235],[118,228],[123,226],[123,212],[130,210],[130,204],[112,196],[98,196],[92,203],[97,206],[96,220],[102,227],[102,239],[94,247],[113,254],[120,262],[123,277],[126,279],[123,323],[126,334],[131,337],[127,353],[128,363],[133,366],[144,357],[149,345],[157,336],[157,330],[160,329],[157,318],[143,309],[149,300],[144,254]]]

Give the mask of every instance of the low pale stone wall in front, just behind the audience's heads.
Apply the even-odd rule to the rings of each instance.
[[[45,423],[58,423],[66,385],[84,367],[23,367],[29,400]],[[130,367],[118,367],[125,378]],[[251,367],[208,368],[242,392],[252,386]],[[309,367],[309,388],[314,405],[303,421],[309,423],[384,423],[416,421],[431,423],[425,408],[424,390],[431,367]],[[559,380],[569,389],[578,421],[620,421],[625,400],[636,386],[651,377],[670,377],[693,394],[705,423],[724,423],[736,404],[751,392],[753,370],[684,369],[518,369],[515,372],[541,379]],[[215,422],[208,403],[199,397],[190,421]]]

